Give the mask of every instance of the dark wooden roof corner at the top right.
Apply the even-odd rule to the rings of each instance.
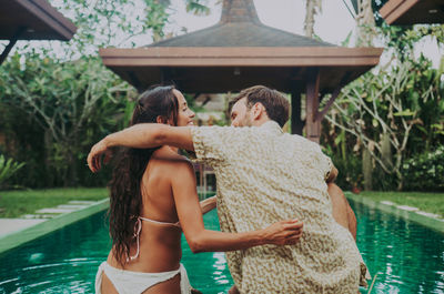
[[[444,23],[444,1],[390,0],[380,13],[389,24]]]

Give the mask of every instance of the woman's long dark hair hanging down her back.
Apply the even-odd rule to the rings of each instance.
[[[142,93],[135,104],[130,125],[172,120],[178,124],[179,101],[173,87],[157,87]],[[134,225],[142,209],[141,180],[154,149],[122,149],[115,160],[110,189],[110,234],[112,250],[123,265],[134,242]]]

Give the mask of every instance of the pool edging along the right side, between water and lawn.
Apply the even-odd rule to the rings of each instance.
[[[434,219],[431,216],[422,215],[416,213],[416,211],[410,211],[405,209],[400,209],[398,206],[403,206],[402,204],[391,203],[391,202],[376,202],[365,196],[356,195],[351,192],[344,192],[347,199],[355,201],[357,203],[364,204],[370,207],[379,209],[383,212],[394,214],[400,216],[401,219],[412,221],[418,223],[423,226],[437,231],[440,233],[444,233],[444,219]]]

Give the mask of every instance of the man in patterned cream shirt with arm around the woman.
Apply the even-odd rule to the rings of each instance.
[[[317,144],[282,132],[287,102],[278,91],[246,89],[238,102],[233,125],[251,128],[134,125],[95,144],[90,168],[100,169],[101,154],[114,145],[193,151],[215,171],[222,231],[245,232],[283,219],[304,223],[296,245],[226,254],[240,293],[356,293],[366,267],[349,230],[333,219],[325,183],[330,159]]]

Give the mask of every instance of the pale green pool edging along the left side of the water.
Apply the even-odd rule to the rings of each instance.
[[[44,222],[38,223],[27,229],[6,234],[0,237],[0,255],[32,240],[44,236],[67,225],[85,219],[92,214],[99,213],[108,209],[109,203],[109,199],[100,200],[97,203],[89,205],[88,207],[80,209],[70,213],[63,213],[53,219],[49,219]]]

